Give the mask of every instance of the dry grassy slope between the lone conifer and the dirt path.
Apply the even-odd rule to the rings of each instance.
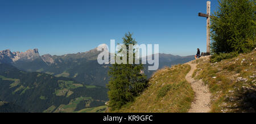
[[[188,112],[194,98],[185,80],[190,69],[189,65],[176,65],[156,71],[142,95],[116,112]]]

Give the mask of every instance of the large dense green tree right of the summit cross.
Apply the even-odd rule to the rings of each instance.
[[[219,0],[211,17],[213,53],[245,53],[255,48],[255,0]]]

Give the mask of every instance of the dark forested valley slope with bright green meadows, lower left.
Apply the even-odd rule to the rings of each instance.
[[[107,89],[84,85],[71,78],[24,72],[0,64],[0,99],[29,112],[74,112],[105,105]],[[79,106],[79,104],[84,106]]]

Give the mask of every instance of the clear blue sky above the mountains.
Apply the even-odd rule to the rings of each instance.
[[[212,2],[212,12],[218,6]],[[133,32],[138,44],[175,55],[206,51],[206,0],[0,0],[0,50],[85,52]]]

